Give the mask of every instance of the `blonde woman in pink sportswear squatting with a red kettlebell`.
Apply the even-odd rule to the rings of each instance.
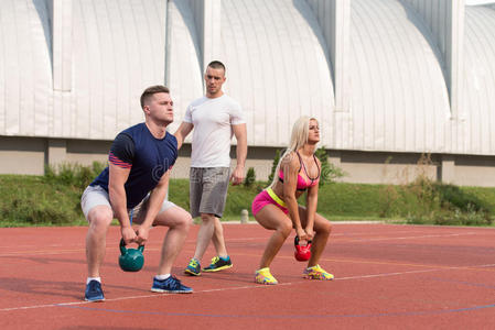
[[[319,265],[332,227],[316,213],[318,184],[321,163],[314,155],[320,142],[316,119],[301,117],[292,128],[290,145],[280,157],[271,185],[252,201],[252,215],[263,228],[273,230],[261,257],[255,282],[278,284],[270,273],[270,264],[283,242],[295,229],[300,241],[312,241],[311,257],[303,276],[310,279],[333,279],[333,275]],[[306,207],[298,205],[298,198],[308,191]]]

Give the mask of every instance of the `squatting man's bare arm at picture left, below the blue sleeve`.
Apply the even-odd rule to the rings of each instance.
[[[129,177],[130,168],[122,168],[110,163],[108,178],[108,195],[115,217],[120,223],[120,232],[126,244],[134,241],[136,233],[132,230],[129,213],[127,212],[127,197],[123,185]]]

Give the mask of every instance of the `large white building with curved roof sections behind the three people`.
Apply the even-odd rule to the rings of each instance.
[[[419,168],[495,186],[495,6],[463,0],[0,0],[0,173],[106,161],[166,85],[174,132],[208,62],[247,118],[266,179],[292,123],[315,117],[346,182]],[[190,142],[190,140],[187,140]],[[191,146],[175,177],[186,177]],[[417,166],[422,154],[430,161]]]

